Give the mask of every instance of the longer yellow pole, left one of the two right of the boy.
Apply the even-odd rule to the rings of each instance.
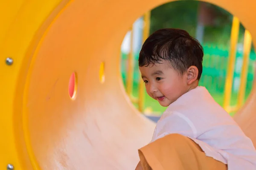
[[[233,76],[234,76],[234,67],[236,61],[236,44],[239,35],[239,19],[233,17],[232,30],[231,30],[231,40],[230,40],[230,56],[227,67],[227,76],[224,88],[224,103],[223,108],[228,111],[230,107],[230,99],[232,92]]]

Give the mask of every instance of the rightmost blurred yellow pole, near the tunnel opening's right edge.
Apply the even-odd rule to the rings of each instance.
[[[244,96],[246,90],[246,81],[247,81],[247,73],[248,73],[248,61],[251,50],[252,37],[248,30],[244,32],[244,56],[243,56],[243,65],[241,71],[241,80],[238,94],[238,108],[240,108],[244,103]]]

